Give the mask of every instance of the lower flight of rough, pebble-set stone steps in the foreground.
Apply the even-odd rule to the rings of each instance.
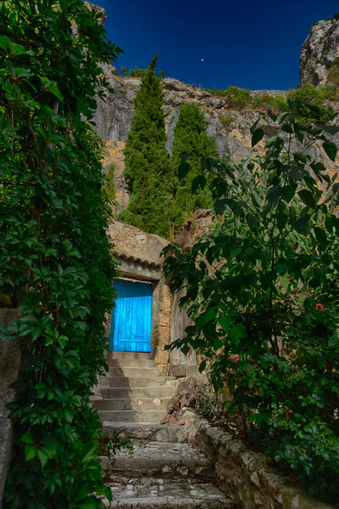
[[[116,423],[104,425],[107,437],[119,429],[134,446],[131,453],[122,449],[99,458],[113,498],[111,504],[103,499],[105,507],[236,509],[216,486],[210,460],[195,447],[175,441],[184,439],[183,427],[131,423],[122,428]]]

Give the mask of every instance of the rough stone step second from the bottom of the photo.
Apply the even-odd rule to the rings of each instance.
[[[192,445],[172,442],[133,442],[133,450],[116,451],[114,457],[101,457],[104,475],[123,477],[214,477],[211,461]]]

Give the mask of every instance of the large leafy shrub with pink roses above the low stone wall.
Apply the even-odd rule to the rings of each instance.
[[[308,493],[336,500],[339,184],[307,147],[318,140],[334,161],[326,135],[339,127],[301,124],[303,107],[289,101],[279,117],[261,116],[287,133],[268,140],[265,157],[201,158],[215,225],[189,252],[165,248],[164,272],[173,291],[185,288],[180,303],[193,321],[173,348],[205,355],[215,392],[229,388],[226,406],[240,412],[245,435],[290,466]],[[264,137],[259,121],[252,146]]]

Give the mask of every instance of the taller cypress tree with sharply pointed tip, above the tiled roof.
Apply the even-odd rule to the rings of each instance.
[[[157,55],[146,69],[134,98],[135,115],[124,150],[124,178],[130,201],[121,219],[165,237],[173,195],[167,190],[170,156],[165,146],[163,96],[159,86],[161,78],[155,73],[156,62]]]

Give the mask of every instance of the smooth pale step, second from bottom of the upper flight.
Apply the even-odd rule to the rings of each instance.
[[[129,399],[117,398],[93,401],[93,407],[97,410],[159,410],[167,408],[166,405],[171,397],[166,398],[143,398]]]

